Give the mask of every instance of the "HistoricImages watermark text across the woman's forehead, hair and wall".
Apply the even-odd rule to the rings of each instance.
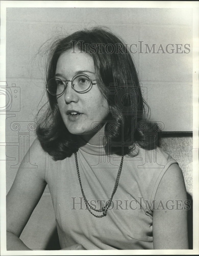
[[[189,54],[190,44],[145,44],[144,41],[138,41],[136,44],[87,44],[84,41],[71,41],[72,53],[89,53],[89,54]],[[78,43],[78,44],[76,44]],[[83,43],[85,50],[83,51]],[[77,49],[77,50],[76,50]]]

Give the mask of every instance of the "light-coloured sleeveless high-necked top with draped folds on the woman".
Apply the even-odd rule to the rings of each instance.
[[[164,173],[177,162],[159,147],[147,151],[136,146],[135,150],[136,156],[123,158],[118,188],[103,218],[86,209],[74,154],[61,161],[46,154],[45,178],[61,248],[78,243],[86,250],[153,249],[151,205]],[[111,197],[121,156],[106,155],[103,147],[87,143],[80,146],[77,158],[85,197],[99,209]]]

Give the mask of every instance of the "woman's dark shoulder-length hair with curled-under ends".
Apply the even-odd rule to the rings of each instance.
[[[55,76],[59,56],[69,49],[73,54],[87,53],[94,60],[97,86],[107,99],[109,109],[105,133],[110,134],[110,143],[108,140],[104,143],[106,152],[110,150],[108,144],[113,143],[114,152],[121,153],[122,145],[123,154],[133,155],[135,144],[145,146],[144,133],[138,129],[138,122],[144,119],[149,108],[143,100],[127,44],[104,28],[77,31],[59,39],[50,48],[46,83]],[[38,120],[37,136],[43,149],[55,161],[62,160],[77,151],[77,137],[70,134],[64,125],[56,96],[47,92],[47,97],[49,108]]]

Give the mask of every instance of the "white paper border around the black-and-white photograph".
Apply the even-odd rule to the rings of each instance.
[[[193,250],[91,250],[91,251],[6,251],[5,225],[5,195],[6,174],[5,161],[1,161],[1,255],[168,255],[199,254],[198,236],[198,10],[199,4],[195,1],[3,1],[1,0],[1,70],[0,81],[5,79],[5,46],[6,46],[6,7],[115,7],[115,8],[193,8]],[[5,141],[5,116],[0,115],[0,142]],[[5,151],[1,151],[5,156]],[[197,198],[197,199],[196,199]]]

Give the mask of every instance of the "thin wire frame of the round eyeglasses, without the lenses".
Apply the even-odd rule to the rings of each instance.
[[[86,89],[86,90],[84,90],[84,91],[77,91],[77,90],[75,90],[75,89],[73,88],[73,83],[72,83],[72,82],[73,82],[74,79],[76,79],[78,76],[81,76],[81,75],[86,76],[87,78],[89,78],[90,81],[91,81],[91,84],[90,84],[90,86],[89,86],[88,89]],[[51,92],[48,91],[48,87],[46,86],[46,90],[48,91],[48,93],[50,93],[50,94],[53,95],[53,96],[60,96],[60,95],[64,94],[64,92],[66,91],[66,88],[67,88],[67,86],[68,86],[68,82],[71,82],[71,87],[72,87],[72,89],[73,89],[74,91],[78,92],[78,93],[86,93],[86,92],[88,92],[88,91],[91,90],[91,88],[90,88],[91,86],[97,84],[97,83],[93,83],[93,81],[97,81],[97,79],[91,79],[88,75],[86,75],[86,74],[84,74],[84,73],[80,73],[80,74],[74,75],[74,77],[73,77],[71,80],[62,80],[61,78],[58,78],[58,77],[52,77],[51,79],[48,80],[47,84],[48,84],[49,81],[52,80],[52,79],[59,79],[59,80],[61,80],[61,81],[63,82],[63,84],[64,84],[64,90],[63,90],[63,92],[60,93],[60,94],[52,94]]]

